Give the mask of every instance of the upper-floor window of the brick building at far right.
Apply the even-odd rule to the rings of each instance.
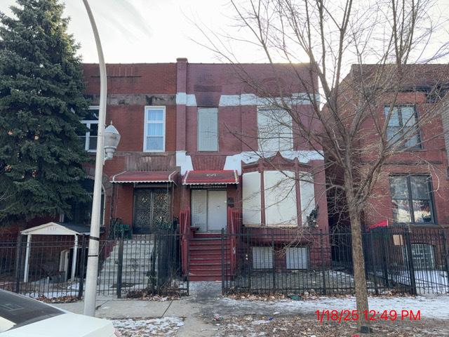
[[[384,107],[385,117],[390,112],[390,106]],[[387,127],[387,141],[400,147],[421,148],[420,135],[417,130],[417,113],[412,105],[396,105],[391,111]]]

